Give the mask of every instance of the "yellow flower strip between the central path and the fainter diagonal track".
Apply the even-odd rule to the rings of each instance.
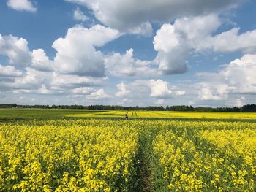
[[[170,191],[201,191],[200,160],[191,140],[177,137],[173,131],[164,130],[153,142],[154,154],[159,155],[159,177],[165,180]],[[198,160],[198,161],[197,161]]]

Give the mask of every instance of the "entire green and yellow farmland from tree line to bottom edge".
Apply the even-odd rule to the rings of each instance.
[[[0,191],[256,190],[254,113],[15,110]]]

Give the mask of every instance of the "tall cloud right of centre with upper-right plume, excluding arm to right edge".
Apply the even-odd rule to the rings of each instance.
[[[164,24],[154,37],[159,70],[164,74],[187,72],[186,59],[201,38],[207,37],[219,26],[217,15],[179,18],[173,25]]]

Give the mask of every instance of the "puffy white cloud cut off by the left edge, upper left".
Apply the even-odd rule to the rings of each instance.
[[[6,55],[9,64],[13,66],[27,66],[31,63],[31,53],[29,52],[26,39],[0,34],[0,55]]]

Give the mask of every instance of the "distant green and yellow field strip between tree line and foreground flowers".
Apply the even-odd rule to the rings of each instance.
[[[55,110],[55,109],[0,109],[0,121],[48,120],[60,118],[107,118],[124,119],[125,111],[105,110]],[[226,120],[256,121],[256,112],[172,112],[129,111],[130,119],[163,120]]]

